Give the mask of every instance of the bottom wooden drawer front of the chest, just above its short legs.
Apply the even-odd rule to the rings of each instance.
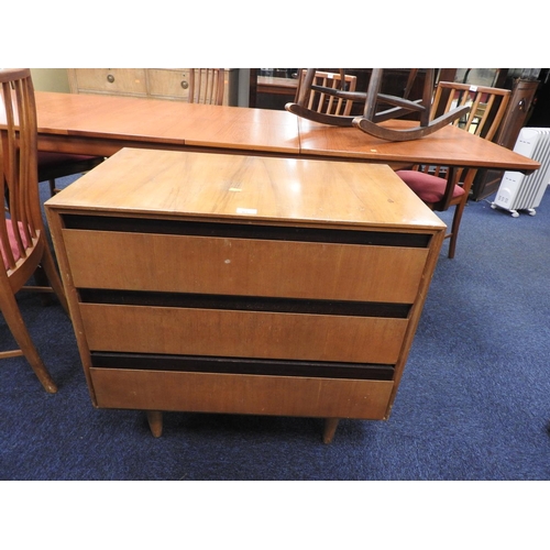
[[[90,369],[96,405],[161,411],[385,419],[394,383]]]

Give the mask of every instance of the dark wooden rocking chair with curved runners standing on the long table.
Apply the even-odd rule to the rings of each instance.
[[[408,99],[413,82],[416,78],[418,69],[411,69],[404,97],[389,96],[381,94],[381,85],[384,69],[373,69],[369,88],[366,92],[349,91],[342,86],[341,89],[327,88],[316,86],[314,78],[316,75],[315,68],[308,68],[304,81],[301,82],[298,91],[296,102],[287,103],[285,109],[297,117],[321,122],[323,124],[338,125],[338,127],[355,127],[359,130],[366,132],[371,135],[387,141],[409,141],[418,140],[429,135],[437,130],[440,130],[447,124],[452,123],[465,114],[469,107],[458,107],[437,119],[430,116],[431,95],[435,84],[435,69],[426,70],[426,79],[424,85],[422,98],[417,100]],[[344,69],[340,69],[340,80],[344,82]],[[312,91],[324,94],[329,97],[338,99],[346,99],[352,101],[364,102],[363,116],[361,117],[340,117],[317,112],[309,109],[308,98]],[[385,109],[377,111],[378,106],[385,106]],[[386,127],[381,127],[380,123],[386,120],[397,119],[406,114],[417,113],[420,124],[407,130],[396,130]]]

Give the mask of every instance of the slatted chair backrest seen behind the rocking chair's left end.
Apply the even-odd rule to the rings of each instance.
[[[298,88],[296,89],[296,100],[300,92],[301,84],[306,76],[306,70],[300,72],[300,77],[298,80]],[[355,91],[358,82],[358,77],[352,75],[344,75],[344,89],[345,91]],[[322,86],[323,88],[332,88],[334,90],[342,89],[342,77],[340,73],[326,73],[322,70],[317,70],[315,73],[312,86]],[[307,108],[311,111],[322,112],[326,114],[333,114],[336,117],[348,117],[351,113],[353,107],[353,100],[336,98],[333,96],[328,96],[322,91],[316,91],[311,88],[309,94],[309,99]]]

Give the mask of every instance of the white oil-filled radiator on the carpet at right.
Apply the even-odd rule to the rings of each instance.
[[[492,208],[503,208],[514,218],[518,210],[531,216],[540,205],[550,179],[550,128],[522,128],[514,151],[540,163],[540,168],[529,176],[520,172],[505,172]]]

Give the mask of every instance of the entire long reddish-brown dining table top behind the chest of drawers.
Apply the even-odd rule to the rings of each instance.
[[[531,172],[540,166],[452,125],[420,140],[387,142],[355,128],[319,124],[268,109],[40,91],[36,109],[43,151],[109,156],[124,146],[139,146],[323,157],[393,167],[418,163]]]

